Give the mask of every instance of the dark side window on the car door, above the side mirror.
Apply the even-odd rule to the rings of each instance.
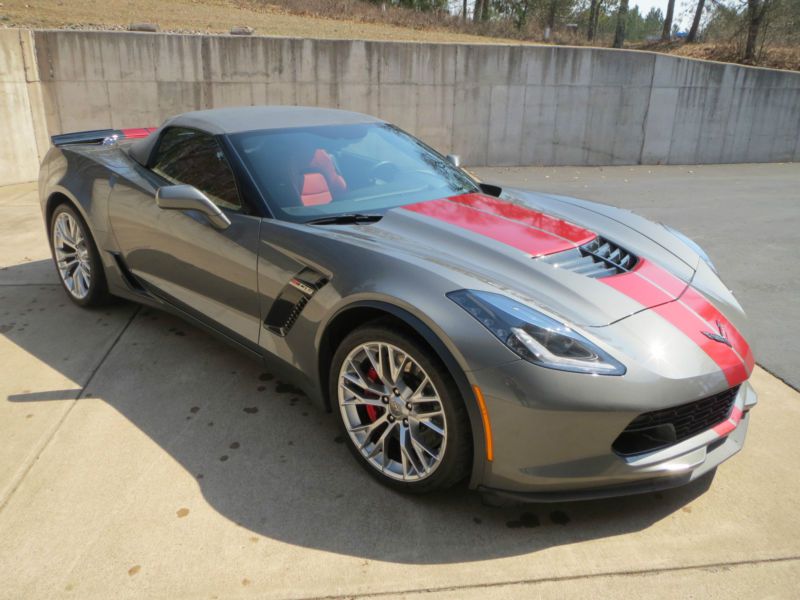
[[[242,209],[233,171],[212,135],[182,127],[167,129],[153,171],[174,184],[193,185],[220,208]]]

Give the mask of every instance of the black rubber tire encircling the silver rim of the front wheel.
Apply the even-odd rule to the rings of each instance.
[[[362,455],[345,423],[346,417],[341,410],[339,396],[342,365],[351,352],[362,344],[368,343],[391,344],[407,353],[428,375],[438,394],[446,419],[444,436],[446,444],[438,466],[424,478],[415,481],[401,481],[381,472],[378,467],[374,466]],[[472,461],[472,434],[464,401],[458,391],[458,386],[444,364],[442,364],[442,361],[424,341],[413,333],[390,321],[374,321],[352,331],[339,344],[333,356],[329,381],[331,405],[342,428],[345,443],[356,457],[356,460],[382,484],[401,492],[425,494],[449,488],[469,474]],[[385,410],[388,415],[389,409]],[[372,418],[374,419],[375,417],[373,416]],[[379,435],[379,432],[376,432],[376,435]],[[397,447],[399,448],[399,445]]]

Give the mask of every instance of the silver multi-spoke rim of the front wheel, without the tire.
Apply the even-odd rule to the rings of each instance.
[[[350,439],[375,469],[419,481],[441,464],[447,444],[442,401],[408,353],[385,342],[357,346],[342,363],[338,390]]]

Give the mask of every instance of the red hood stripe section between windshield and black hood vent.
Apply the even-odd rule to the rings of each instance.
[[[561,252],[577,245],[541,229],[447,199],[409,204],[403,208],[467,229],[532,256]]]

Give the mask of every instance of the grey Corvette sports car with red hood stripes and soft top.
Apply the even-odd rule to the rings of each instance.
[[[685,484],[744,443],[744,312],[664,225],[481,183],[338,110],[53,143],[40,194],[68,296],[169,310],[267,361],[387,485],[613,496]]]

